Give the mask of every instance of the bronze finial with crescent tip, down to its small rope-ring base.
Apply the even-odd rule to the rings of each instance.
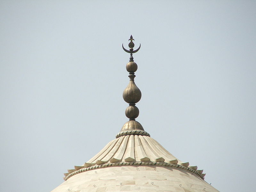
[[[141,92],[140,92],[140,89],[134,83],[134,78],[135,78],[134,72],[137,71],[138,66],[133,60],[132,53],[139,51],[140,46],[138,49],[133,51],[134,39],[132,35],[129,41],[130,43],[128,44],[128,46],[130,50],[126,50],[124,48],[124,44],[122,44],[124,51],[130,53],[131,55],[130,61],[126,64],[126,70],[129,72],[128,77],[130,78],[130,82],[123,92],[124,101],[129,103],[129,106],[125,109],[125,116],[129,118],[129,121],[123,125],[121,132],[117,133],[116,138],[121,137],[123,135],[130,135],[130,134],[150,136],[147,132],[144,131],[142,125],[138,121],[135,121],[135,118],[139,116],[139,109],[135,106],[136,105],[135,103],[138,103],[140,101]]]

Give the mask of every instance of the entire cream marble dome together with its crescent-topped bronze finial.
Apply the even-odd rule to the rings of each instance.
[[[133,62],[132,53],[140,49],[133,51],[133,40],[131,36],[130,51],[123,47],[131,53],[127,65]],[[129,68],[130,83],[123,93],[129,103],[125,111],[129,121],[99,153],[64,173],[65,181],[52,192],[218,192],[204,181],[203,170],[173,156],[135,121],[139,115],[135,103],[141,92],[134,84],[136,70]]]

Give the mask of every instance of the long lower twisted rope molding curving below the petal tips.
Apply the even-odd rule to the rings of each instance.
[[[201,177],[203,180],[204,180],[204,175],[205,175],[205,174],[202,175],[201,173],[197,172],[194,169],[191,169],[191,168],[183,166],[183,165],[178,165],[178,164],[170,164],[170,163],[164,163],[164,162],[130,162],[130,163],[129,162],[118,162],[118,163],[106,163],[106,164],[94,165],[91,167],[81,168],[79,170],[76,170],[76,171],[68,174],[64,180],[67,180],[68,178],[70,178],[73,175],[76,175],[78,173],[90,171],[93,169],[99,169],[99,168],[111,167],[111,166],[129,166],[129,165],[159,165],[159,166],[166,166],[166,167],[175,167],[178,169],[184,169],[189,172],[193,172],[193,173],[197,174],[199,177]]]

